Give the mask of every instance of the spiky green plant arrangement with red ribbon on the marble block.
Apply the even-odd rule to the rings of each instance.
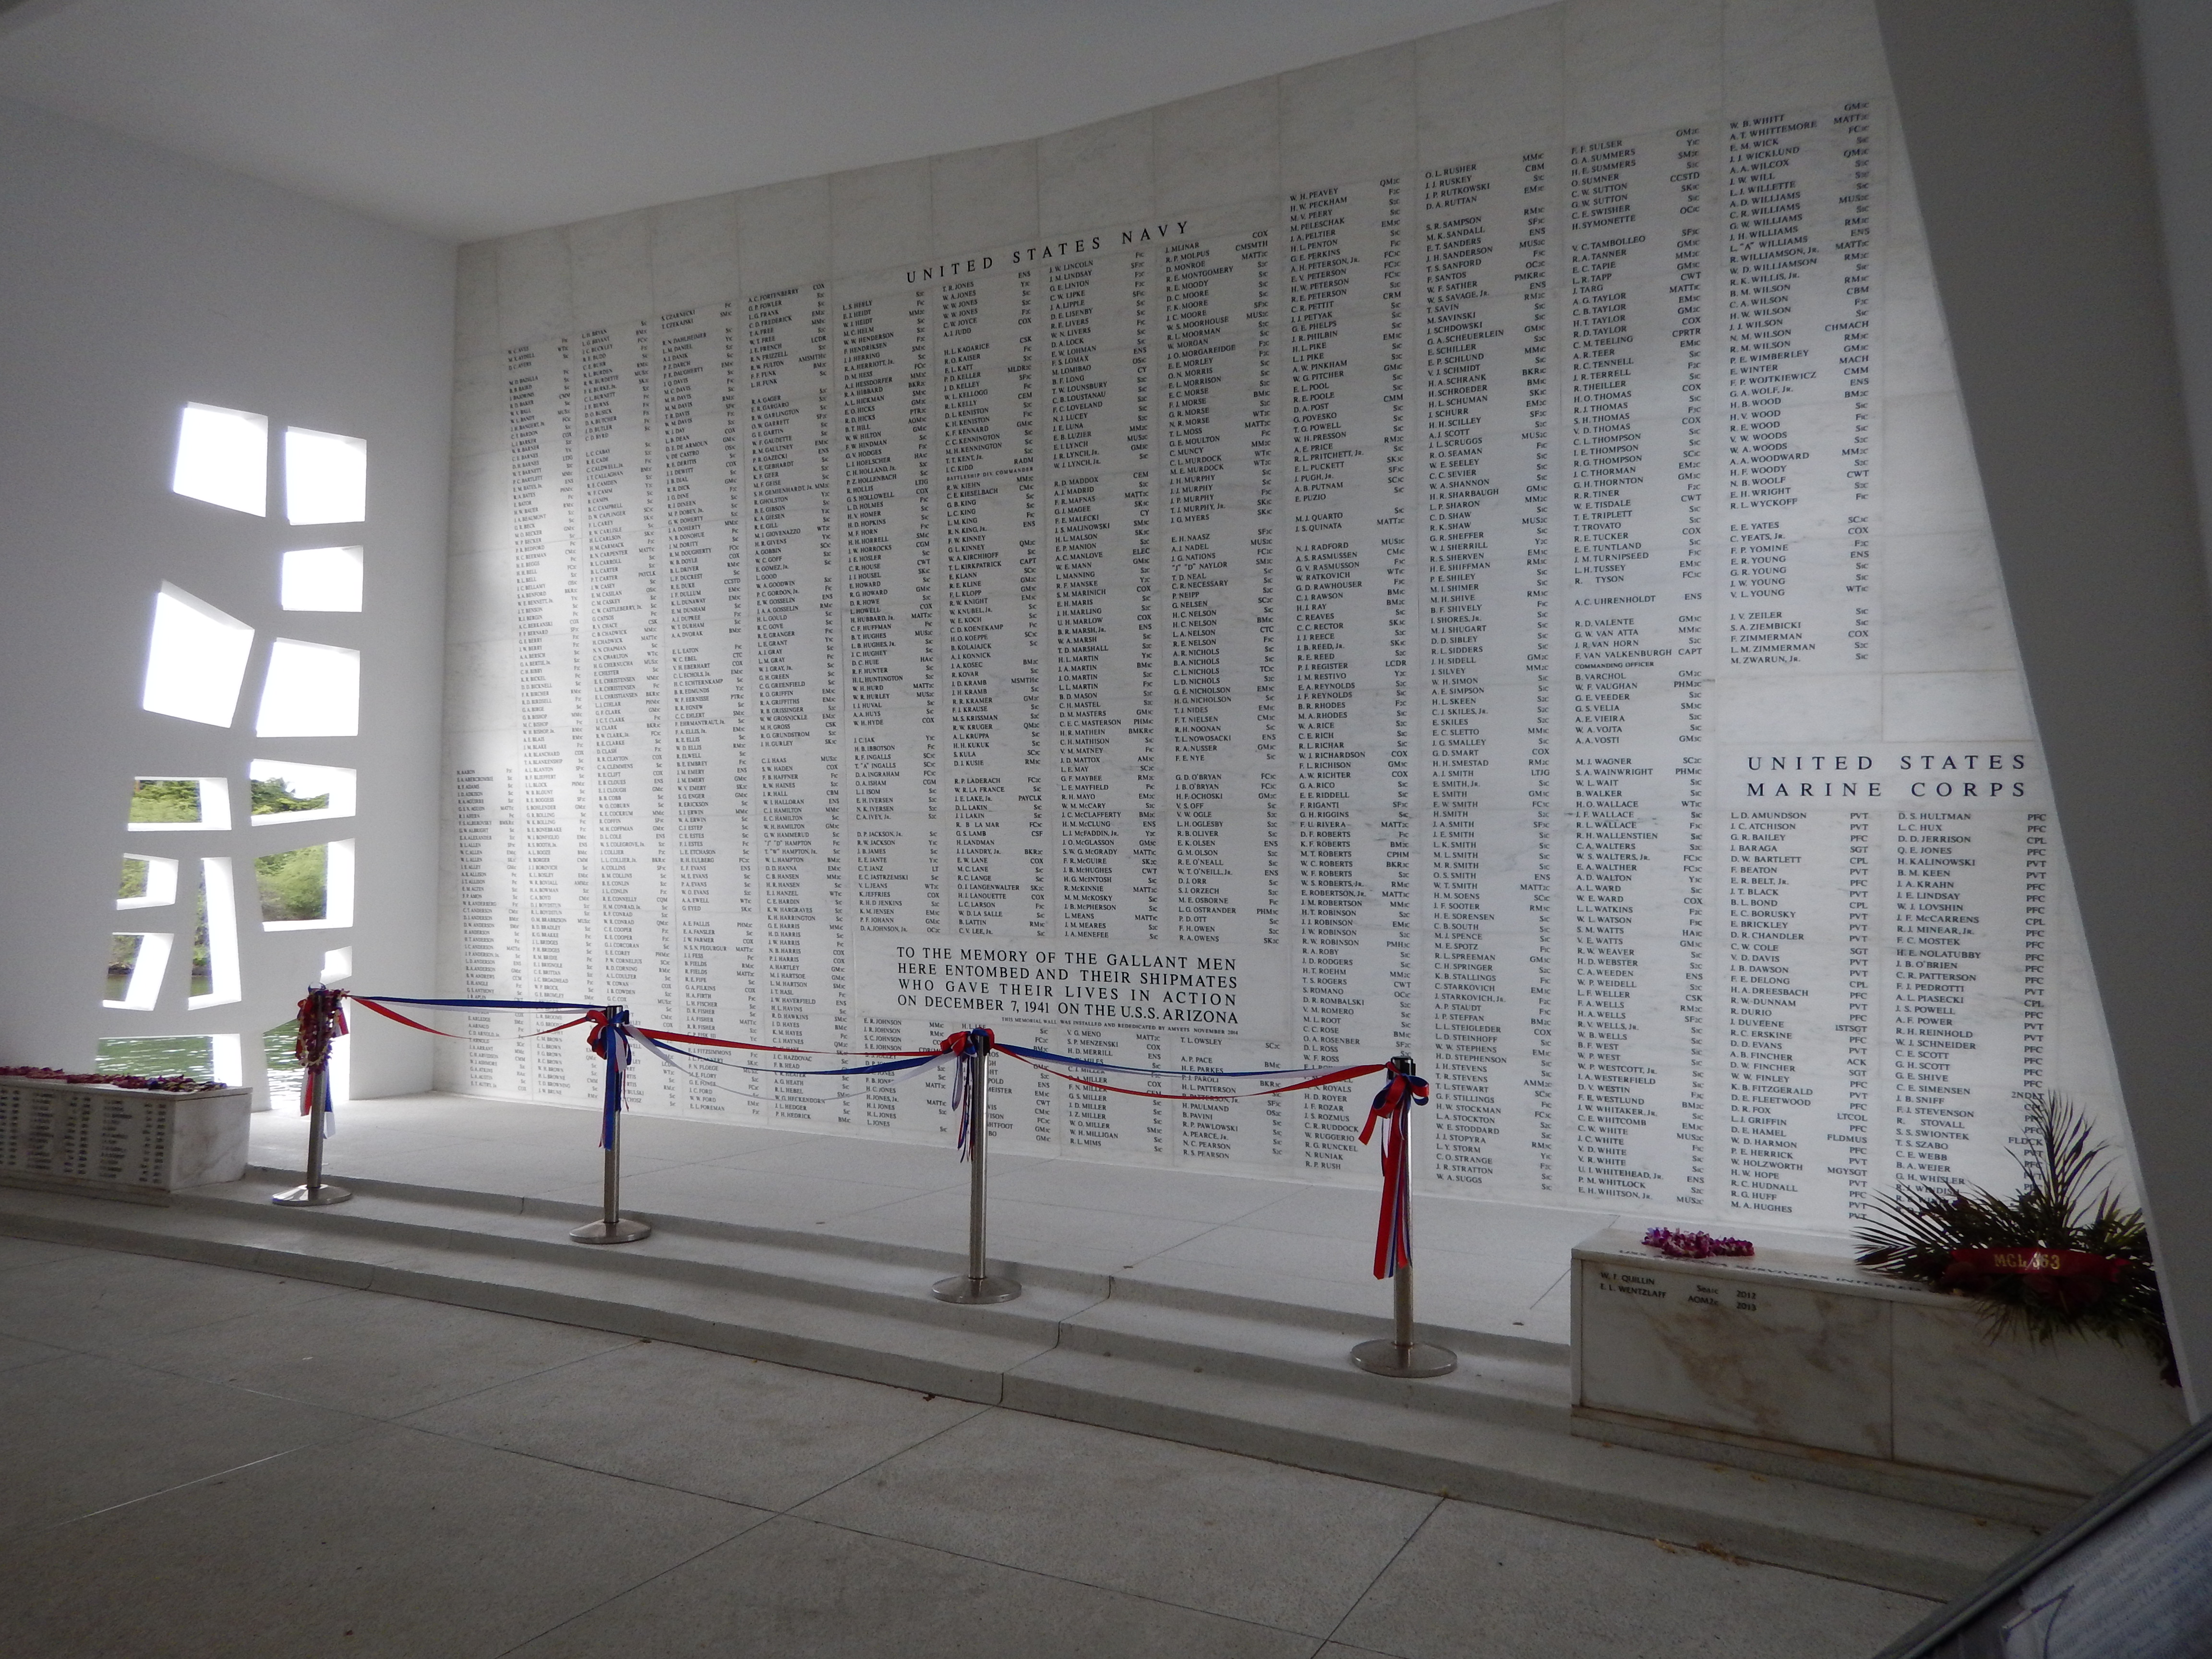
[[[1898,1188],[1858,1230],[1860,1265],[1973,1296],[1991,1338],[2139,1336],[2179,1385],[2143,1212],[2121,1210],[2110,1186],[2090,1194],[2110,1144],[2090,1144],[2088,1119],[2057,1093],[2028,1104],[2028,1133],[2015,1197],[1955,1181]]]

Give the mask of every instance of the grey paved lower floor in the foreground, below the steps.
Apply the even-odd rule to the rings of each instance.
[[[1911,1597],[728,1354],[0,1239],[0,1652],[1856,1659]]]

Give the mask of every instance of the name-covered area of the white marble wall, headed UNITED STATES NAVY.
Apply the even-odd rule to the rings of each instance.
[[[1413,1053],[1420,1177],[1480,1197],[1834,1230],[2008,1181],[2022,1099],[2106,1106],[2110,1062],[1909,175],[1878,62],[1754,71],[1705,119],[730,259],[726,299],[504,343],[449,989],[805,1048]],[[573,1033],[513,1031],[447,1082],[593,1099]],[[949,1135],[936,1075],[637,1077]],[[1002,1062],[991,1124],[1371,1179],[1369,1088],[1175,1093]]]

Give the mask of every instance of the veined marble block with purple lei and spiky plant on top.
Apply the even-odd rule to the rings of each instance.
[[[1756,1241],[1754,1241],[1756,1243]],[[1575,1248],[1573,1429],[2048,1524],[2188,1427],[2141,1347],[1991,1343],[1978,1303],[1847,1254]]]

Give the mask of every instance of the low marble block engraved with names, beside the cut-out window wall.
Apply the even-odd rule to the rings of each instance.
[[[246,1175],[252,1091],[53,1084],[0,1077],[0,1183],[168,1203]]]

